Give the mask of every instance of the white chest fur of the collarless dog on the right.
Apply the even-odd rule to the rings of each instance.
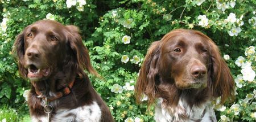
[[[183,98],[179,99],[176,107],[166,106],[163,104],[163,99],[159,98],[159,102],[155,107],[155,120],[157,122],[217,121],[210,102],[190,107]]]

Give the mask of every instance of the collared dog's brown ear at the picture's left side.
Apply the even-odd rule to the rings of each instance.
[[[24,29],[26,30],[26,29]],[[24,47],[24,31],[21,32],[18,36],[16,36],[16,40],[13,45],[12,53],[15,56],[15,59],[18,61],[19,67],[19,74],[24,79],[27,78],[27,70],[24,68],[24,54],[25,54],[25,47]]]

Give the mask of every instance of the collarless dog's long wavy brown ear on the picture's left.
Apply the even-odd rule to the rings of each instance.
[[[160,41],[153,42],[147,51],[144,62],[139,72],[135,95],[137,103],[141,102],[143,94],[148,97],[148,104],[155,102],[155,80],[159,72]]]

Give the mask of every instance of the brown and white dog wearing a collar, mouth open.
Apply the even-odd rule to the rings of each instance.
[[[114,121],[84,72],[98,75],[77,27],[36,21],[16,37],[13,50],[20,75],[32,84],[32,121]]]

